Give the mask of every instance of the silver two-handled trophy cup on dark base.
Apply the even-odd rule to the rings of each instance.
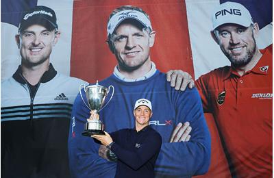
[[[86,99],[88,100],[88,105],[86,104],[82,96],[81,90],[83,87],[84,91],[86,92]],[[80,86],[79,90],[81,98],[86,107],[88,107],[88,109],[90,109],[91,111],[90,118],[87,118],[88,122],[85,124],[85,130],[82,133],[83,136],[92,136],[93,134],[105,134],[103,132],[103,123],[99,119],[98,112],[101,111],[103,107],[108,105],[108,103],[110,103],[109,100],[108,103],[103,105],[103,103],[105,103],[105,97],[107,97],[108,93],[110,92],[110,88],[112,88],[112,95],[110,97],[111,100],[114,94],[114,86],[109,86],[108,88],[105,88],[104,86],[100,86],[98,84],[98,81],[95,85],[92,86],[85,86],[84,84]]]

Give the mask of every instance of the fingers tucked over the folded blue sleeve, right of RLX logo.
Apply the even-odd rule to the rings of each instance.
[[[188,142],[190,140],[190,131],[191,131],[190,124],[188,122],[178,123],[175,127],[170,142]]]

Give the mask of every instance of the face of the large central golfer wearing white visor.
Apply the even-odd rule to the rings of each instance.
[[[154,31],[149,34],[129,23],[119,25],[114,35],[114,53],[119,66],[130,71],[150,62],[149,53],[154,36]]]

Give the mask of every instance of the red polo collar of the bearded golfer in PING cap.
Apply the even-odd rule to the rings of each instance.
[[[269,50],[267,50],[267,48],[261,49],[260,52],[262,53],[262,57],[260,58],[260,60],[256,64],[256,66],[254,66],[250,71],[247,71],[247,73],[245,73],[245,75],[247,75],[248,73],[258,73],[261,75],[268,75],[270,73],[269,71],[271,71],[271,70],[269,70],[269,69],[272,67],[272,65],[270,64],[269,56],[270,55],[272,56],[272,54]],[[225,74],[224,80],[228,79],[232,75],[236,75],[236,76],[240,77],[240,75],[238,75],[235,68],[233,68],[231,66],[229,68],[229,71],[227,71],[227,73]]]

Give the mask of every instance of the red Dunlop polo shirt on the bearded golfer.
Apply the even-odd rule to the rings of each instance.
[[[196,81],[238,177],[272,177],[272,45],[261,53],[243,76],[225,66]]]

